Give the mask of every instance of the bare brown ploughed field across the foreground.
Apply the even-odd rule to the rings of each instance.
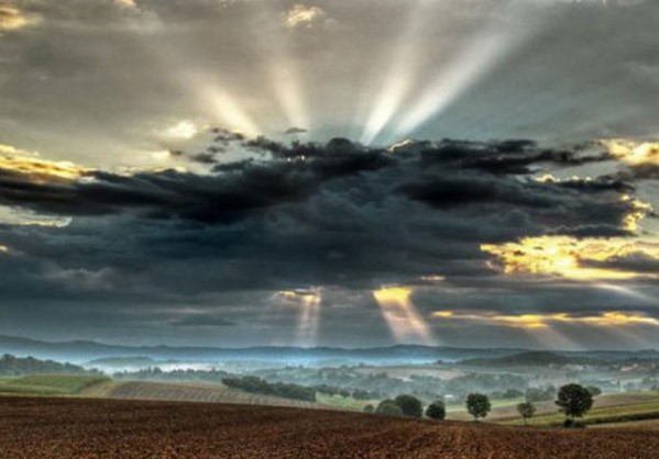
[[[3,459],[655,459],[651,430],[545,430],[204,403],[1,398]]]

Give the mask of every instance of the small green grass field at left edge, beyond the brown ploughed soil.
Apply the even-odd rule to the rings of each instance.
[[[109,378],[77,374],[34,374],[0,379],[0,394],[74,395],[83,390],[109,381]]]

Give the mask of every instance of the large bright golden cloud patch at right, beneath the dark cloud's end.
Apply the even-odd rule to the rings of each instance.
[[[481,250],[493,255],[495,261],[490,265],[501,268],[506,275],[557,276],[575,280],[657,277],[597,266],[636,254],[659,261],[659,243],[642,239],[542,236],[527,237],[519,243],[484,244]]]

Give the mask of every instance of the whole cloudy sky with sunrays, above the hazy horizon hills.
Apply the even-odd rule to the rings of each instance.
[[[657,23],[0,0],[0,334],[659,348]]]

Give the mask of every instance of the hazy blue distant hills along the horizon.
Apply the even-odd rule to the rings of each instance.
[[[469,359],[506,358],[528,349],[490,348],[470,349],[419,345],[397,345],[372,348],[334,347],[174,347],[174,346],[117,346],[95,342],[43,342],[37,339],[0,336],[0,355],[32,356],[41,359],[86,362],[102,358],[149,358],[197,362],[268,361],[273,363],[432,363]],[[532,354],[532,352],[531,352]],[[597,360],[659,359],[656,349],[637,351],[551,351],[551,355]],[[531,356],[532,357],[532,356]],[[473,361],[473,360],[472,360]]]

